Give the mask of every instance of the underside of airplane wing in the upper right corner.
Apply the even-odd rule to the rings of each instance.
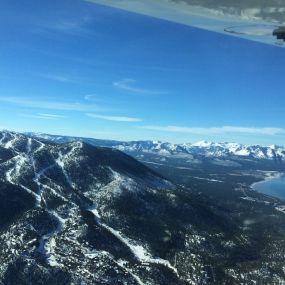
[[[285,46],[285,0],[87,0],[200,29]]]

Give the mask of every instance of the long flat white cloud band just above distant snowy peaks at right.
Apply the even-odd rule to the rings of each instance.
[[[285,134],[285,129],[282,128],[251,128],[251,127],[235,127],[223,126],[213,128],[189,128],[181,126],[142,126],[141,128],[173,133],[189,133],[196,135],[219,135],[219,134],[249,134],[249,135],[279,135]]]

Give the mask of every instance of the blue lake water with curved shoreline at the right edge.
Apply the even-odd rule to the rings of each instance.
[[[253,189],[260,193],[285,200],[285,176],[255,183]]]

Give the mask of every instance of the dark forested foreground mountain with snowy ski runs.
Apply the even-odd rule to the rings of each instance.
[[[119,150],[47,139],[0,132],[0,285],[285,280],[276,200],[213,200]]]

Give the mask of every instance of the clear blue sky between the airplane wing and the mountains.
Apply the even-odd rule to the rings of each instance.
[[[0,128],[285,143],[285,50],[79,0],[0,3]]]

